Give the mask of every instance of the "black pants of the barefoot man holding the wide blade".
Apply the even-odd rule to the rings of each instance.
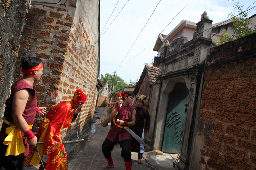
[[[113,140],[113,142],[111,142],[110,140],[108,140],[107,138],[105,139],[105,141],[102,144],[102,152],[103,155],[105,156],[105,158],[109,158],[111,156],[111,151],[113,151],[114,146],[116,144],[120,144],[121,148],[122,148],[122,157],[124,158],[125,162],[131,162],[131,151],[130,151],[130,139],[125,139],[121,142],[119,142],[119,136],[118,133],[116,134],[115,139]]]

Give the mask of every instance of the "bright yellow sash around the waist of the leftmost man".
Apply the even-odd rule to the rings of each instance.
[[[7,137],[4,139],[3,144],[8,145],[7,150],[5,152],[5,156],[17,156],[20,155],[21,153],[26,152],[26,148],[23,144],[20,129],[16,125],[8,122],[6,119],[4,119],[4,122],[10,125],[8,128],[5,129]],[[28,125],[29,129],[32,129],[32,126],[33,125]]]

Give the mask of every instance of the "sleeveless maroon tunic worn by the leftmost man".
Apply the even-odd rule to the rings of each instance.
[[[34,124],[35,121],[35,117],[36,117],[36,91],[35,89],[29,85],[26,81],[24,81],[23,79],[20,79],[18,81],[16,81],[14,83],[14,85],[12,85],[11,88],[11,96],[6,100],[5,102],[5,112],[4,112],[4,117],[5,119],[12,123],[15,124],[13,118],[12,118],[12,100],[13,100],[13,94],[18,92],[19,90],[22,89],[31,89],[34,91],[34,94],[31,98],[31,100],[26,104],[25,110],[22,114],[22,116],[24,117],[25,121],[28,123],[28,125],[32,125]],[[1,128],[1,132],[0,132],[0,140],[4,137],[5,134],[5,129],[8,128],[9,125],[6,124],[5,122],[3,122],[2,128]],[[27,138],[23,137],[23,133],[21,132],[22,138],[23,138],[23,144],[26,148],[26,152],[17,155],[19,157],[24,157],[27,156],[29,153],[29,144],[27,143]]]

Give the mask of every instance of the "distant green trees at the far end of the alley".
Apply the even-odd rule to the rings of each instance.
[[[113,83],[113,78],[114,78],[114,74],[111,75],[109,73],[106,73],[105,76],[103,76],[102,74],[100,74],[99,76],[99,80],[101,82],[106,82],[108,81],[108,87],[110,88],[112,86]],[[122,78],[120,78],[119,76],[117,76],[117,74],[115,75],[115,80],[114,80],[114,89],[112,92],[112,96],[116,96],[115,92],[116,90],[122,89],[124,87],[127,87],[128,85],[125,82],[118,82],[118,81],[124,81]],[[124,90],[122,90],[123,92]]]

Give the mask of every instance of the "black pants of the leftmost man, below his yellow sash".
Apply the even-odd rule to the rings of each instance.
[[[4,156],[8,147],[8,145],[3,144],[5,137],[7,134],[0,141],[0,170],[24,170],[26,157]]]

